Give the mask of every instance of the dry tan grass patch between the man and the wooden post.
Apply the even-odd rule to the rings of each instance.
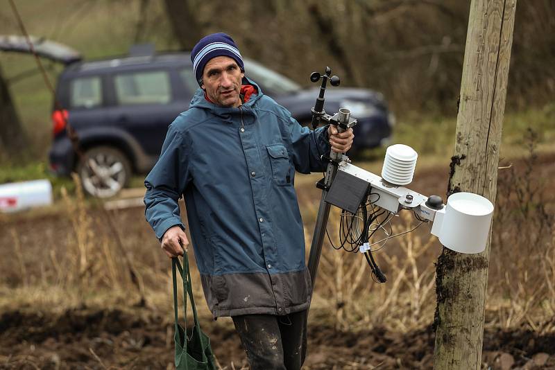
[[[393,234],[414,227],[411,213],[395,219]],[[330,224],[330,234],[336,235],[332,229]],[[375,253],[388,276],[384,284],[375,282],[361,254],[323,250],[313,303],[318,316],[334,317],[334,326],[342,331],[384,326],[406,332],[432,321],[435,269],[427,252],[438,247],[435,238],[407,234],[388,243]]]

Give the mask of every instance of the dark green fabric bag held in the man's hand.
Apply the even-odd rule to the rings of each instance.
[[[189,272],[189,258],[187,252],[183,255],[183,265],[181,267],[178,258],[171,258],[171,274],[173,277],[173,310],[176,314],[176,333],[173,340],[176,344],[176,369],[178,370],[216,370],[214,366],[214,354],[210,347],[210,339],[200,330],[200,324],[196,315],[193,290],[191,288],[191,273]],[[178,268],[183,281],[183,301],[185,303],[185,327],[178,324],[178,282],[176,267]],[[195,326],[191,336],[187,336],[187,295],[191,300]]]

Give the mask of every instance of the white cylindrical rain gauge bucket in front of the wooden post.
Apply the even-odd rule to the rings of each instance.
[[[481,195],[454,193],[434,218],[432,234],[441,244],[460,253],[480,253],[486,248],[493,204]]]

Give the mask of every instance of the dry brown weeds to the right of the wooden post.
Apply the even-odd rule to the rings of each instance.
[[[552,331],[555,322],[555,213],[540,173],[538,136],[529,129],[523,139],[527,156],[520,168],[499,173],[489,294],[497,298],[495,319],[502,327],[527,325]]]

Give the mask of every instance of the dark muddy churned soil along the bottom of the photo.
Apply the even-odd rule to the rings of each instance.
[[[221,320],[219,320],[221,321]],[[221,367],[246,364],[229,323],[204,322]],[[0,369],[166,369],[172,367],[173,324],[121,310],[4,312],[0,317]],[[312,324],[306,369],[431,369],[431,328],[391,333],[373,328],[343,333]],[[555,369],[555,333],[486,328],[484,368]],[[512,366],[511,366],[512,365]]]

